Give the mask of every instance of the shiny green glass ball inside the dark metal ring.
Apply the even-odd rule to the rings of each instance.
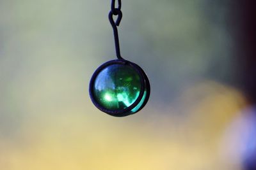
[[[93,83],[93,97],[107,110],[124,110],[138,99],[141,92],[140,78],[138,71],[128,64],[111,64],[97,74]],[[129,113],[140,110],[146,96],[147,89],[140,103]]]

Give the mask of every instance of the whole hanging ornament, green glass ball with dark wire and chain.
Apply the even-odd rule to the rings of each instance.
[[[114,117],[125,117],[140,111],[150,96],[148,77],[140,66],[120,55],[118,29],[122,20],[121,0],[115,7],[112,0],[109,22],[113,27],[116,60],[110,60],[96,69],[90,81],[89,93],[99,110]],[[117,19],[114,21],[113,16]]]

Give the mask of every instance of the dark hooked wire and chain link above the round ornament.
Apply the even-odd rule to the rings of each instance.
[[[115,39],[115,48],[116,48],[116,57],[117,59],[123,59],[120,54],[120,45],[119,45],[119,37],[118,37],[118,29],[117,27],[120,25],[120,22],[122,20],[123,14],[121,11],[122,3],[121,0],[118,0],[118,6],[116,8],[115,6],[115,0],[112,0],[111,3],[111,11],[109,11],[109,22],[111,26],[113,27],[113,33],[114,33],[114,39]],[[117,19],[114,21],[113,16],[116,15]]]

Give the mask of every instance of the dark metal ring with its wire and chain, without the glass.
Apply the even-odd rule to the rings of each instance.
[[[133,62],[130,62],[128,60],[125,60],[121,54],[120,54],[120,44],[119,44],[119,38],[118,38],[118,29],[117,27],[119,26],[123,14],[121,11],[121,7],[122,7],[122,2],[121,0],[118,0],[118,6],[117,8],[115,7],[115,0],[112,0],[111,2],[111,11],[109,11],[109,22],[111,24],[111,26],[113,27],[113,34],[114,34],[114,39],[115,39],[115,48],[116,48],[116,57],[117,60],[110,60],[108,62],[105,62],[104,64],[102,64],[100,67],[97,68],[97,70],[93,73],[93,76],[90,80],[90,86],[89,86],[89,94],[90,97],[92,99],[92,103],[99,108],[99,110],[108,113],[109,115],[112,115],[114,117],[125,117],[127,115],[132,115],[134,113],[137,113],[138,111],[140,111],[148,102],[148,98],[150,96],[150,83],[147,77],[147,74],[143,71],[143,69],[141,69],[140,66],[138,66],[137,64],[134,64]],[[117,19],[116,21],[114,21],[113,16],[116,15]],[[140,94],[138,96],[138,99],[136,99],[136,101],[134,103],[132,103],[131,106],[129,106],[128,108],[125,108],[124,110],[108,110],[106,108],[104,108],[103,106],[101,106],[97,100],[95,99],[95,96],[93,94],[93,86],[95,83],[95,79],[97,78],[98,74],[100,73],[100,71],[102,71],[102,69],[111,66],[113,64],[122,64],[122,65],[129,65],[131,66],[133,69],[135,69],[137,71],[137,73],[140,76],[140,83],[141,83],[141,89],[140,89]],[[138,104],[141,102],[145,90],[147,92],[147,96],[145,97],[145,101],[143,102],[143,104],[141,105],[141,107],[134,113],[132,113],[132,110],[138,106]]]

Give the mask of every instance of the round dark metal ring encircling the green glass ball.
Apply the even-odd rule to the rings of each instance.
[[[134,103],[132,103],[131,106],[129,106],[128,108],[125,108],[123,110],[108,110],[108,109],[104,108],[103,106],[101,106],[97,102],[97,99],[95,99],[95,96],[94,96],[94,93],[93,93],[93,87],[94,87],[94,84],[95,84],[95,80],[96,80],[97,76],[99,75],[99,73],[103,69],[105,69],[106,67],[111,66],[113,64],[121,64],[121,65],[131,66],[140,76],[140,83],[141,83],[140,94],[139,94],[138,98],[136,99],[136,101]],[[138,106],[138,104],[141,102],[141,99],[143,98],[145,90],[146,90],[147,94],[146,94],[146,97],[145,97],[145,100],[144,100],[143,104],[141,105],[141,107],[139,108],[138,111],[140,111],[147,104],[148,98],[150,96],[150,83],[148,81],[147,75],[145,74],[143,69],[141,69],[140,66],[138,66],[137,64],[134,64],[133,62],[130,62],[128,60],[124,60],[124,59],[110,60],[110,61],[105,62],[104,64],[102,64],[93,73],[93,76],[90,80],[90,85],[89,85],[89,94],[90,94],[90,98],[92,99],[92,103],[99,110],[107,113],[108,115],[114,116],[114,117],[125,117],[125,116],[128,116],[128,115],[134,114],[131,111],[136,106]],[[137,113],[138,111],[136,111],[135,113]]]

